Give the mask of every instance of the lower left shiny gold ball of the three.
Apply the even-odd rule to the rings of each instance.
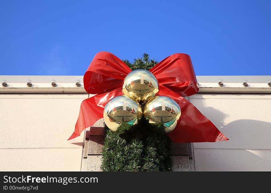
[[[116,96],[104,107],[103,119],[111,131],[116,131],[122,122],[137,124],[142,117],[140,104],[127,96]]]

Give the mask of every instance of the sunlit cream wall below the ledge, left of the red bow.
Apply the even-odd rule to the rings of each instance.
[[[74,131],[88,94],[0,94],[0,171],[80,171],[84,132]]]

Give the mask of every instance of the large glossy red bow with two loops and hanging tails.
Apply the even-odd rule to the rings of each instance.
[[[190,56],[172,54],[151,70],[158,80],[157,95],[174,99],[181,108],[181,117],[175,129],[168,133],[174,143],[218,142],[229,140],[216,126],[192,105],[185,96],[199,90]],[[95,55],[84,74],[84,87],[89,94],[96,94],[83,100],[75,131],[68,139],[80,136],[81,132],[103,118],[106,103],[115,96],[123,95],[122,86],[131,69],[118,57],[109,52]]]

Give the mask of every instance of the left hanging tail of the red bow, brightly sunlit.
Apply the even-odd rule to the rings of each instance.
[[[111,92],[96,94],[91,98],[83,100],[79,116],[75,124],[75,130],[68,140],[80,136],[84,129],[91,127],[96,123],[96,121],[103,118],[103,110],[106,103],[113,97],[121,95],[121,90],[121,88],[115,89]]]

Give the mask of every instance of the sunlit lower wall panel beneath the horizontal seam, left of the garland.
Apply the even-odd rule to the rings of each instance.
[[[82,149],[1,149],[0,171],[80,171]]]

